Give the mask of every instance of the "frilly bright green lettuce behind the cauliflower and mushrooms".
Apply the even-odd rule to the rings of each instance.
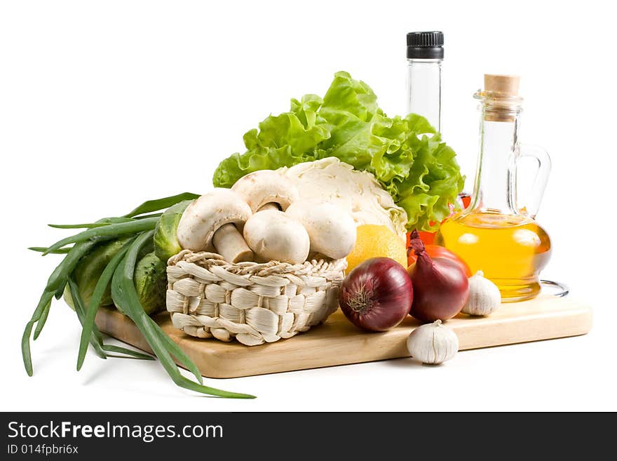
[[[335,156],[372,173],[407,212],[408,229],[437,229],[464,184],[454,150],[423,116],[389,118],[372,89],[347,72],[334,74],[323,99],[292,99],[290,112],[264,119],[244,143],[244,154],[219,164],[215,187],[231,187],[252,171]]]

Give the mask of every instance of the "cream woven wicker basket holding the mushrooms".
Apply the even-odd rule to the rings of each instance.
[[[346,266],[344,259],[231,264],[182,250],[168,261],[167,310],[175,328],[198,338],[275,342],[337,310]]]

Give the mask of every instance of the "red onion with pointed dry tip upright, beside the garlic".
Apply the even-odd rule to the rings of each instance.
[[[417,231],[412,232],[411,239],[417,260],[407,269],[414,284],[414,303],[409,314],[427,322],[452,319],[461,312],[469,296],[466,274],[452,260],[431,259]]]

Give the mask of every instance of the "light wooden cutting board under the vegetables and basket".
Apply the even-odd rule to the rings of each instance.
[[[154,319],[178,343],[208,378],[236,378],[409,356],[405,340],[419,322],[407,317],[385,333],[355,328],[339,311],[306,333],[271,344],[248,347],[238,342],[198,339],[173,328],[167,312]],[[100,309],[100,330],[151,352],[128,317]],[[459,314],[446,322],[459,336],[459,349],[477,349],[566,336],[584,335],[592,324],[588,305],[566,297],[539,295],[531,301],[503,304],[488,317]]]

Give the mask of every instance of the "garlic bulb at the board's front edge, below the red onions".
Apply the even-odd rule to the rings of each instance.
[[[442,363],[452,359],[459,351],[459,337],[454,330],[437,320],[413,330],[407,338],[407,349],[414,359],[422,363]]]

